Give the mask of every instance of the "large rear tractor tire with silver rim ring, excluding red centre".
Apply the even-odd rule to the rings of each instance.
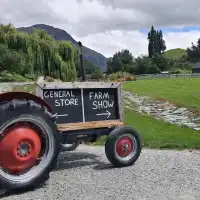
[[[0,136],[3,137],[3,130],[10,124],[24,121],[35,123],[37,127],[41,128],[41,132],[46,134],[45,148],[47,150],[45,150],[44,157],[41,157],[38,166],[35,167],[37,171],[31,169],[33,170],[32,174],[31,171],[27,172],[22,175],[21,179],[14,175],[7,176],[0,169],[0,191],[10,192],[11,190],[34,189],[40,186],[48,180],[49,173],[57,162],[60,151],[60,134],[52,114],[45,107],[33,101],[12,100],[0,104]]]

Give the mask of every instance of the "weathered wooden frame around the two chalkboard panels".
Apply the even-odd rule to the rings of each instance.
[[[122,97],[122,84],[120,82],[42,82],[37,83],[36,95],[43,99],[43,89],[92,89],[117,88],[118,120],[103,120],[78,123],[57,124],[59,131],[86,130],[95,128],[111,128],[124,125],[124,105]],[[83,96],[82,96],[83,98]]]

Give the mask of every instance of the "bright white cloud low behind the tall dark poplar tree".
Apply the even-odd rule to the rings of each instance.
[[[200,38],[200,31],[169,32],[164,34],[167,49],[184,48],[196,43]],[[79,38],[80,39],[80,38]],[[134,56],[147,54],[147,35],[139,31],[109,31],[106,33],[91,34],[83,37],[84,45],[110,57],[116,51],[129,49]]]

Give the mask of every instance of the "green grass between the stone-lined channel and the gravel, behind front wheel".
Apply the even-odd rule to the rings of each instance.
[[[140,134],[143,146],[153,149],[199,149],[200,132],[179,127],[125,109],[125,124],[134,127]],[[95,145],[103,145],[101,137]]]

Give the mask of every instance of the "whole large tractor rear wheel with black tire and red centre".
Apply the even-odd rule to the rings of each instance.
[[[44,183],[59,151],[60,135],[45,107],[26,100],[0,104],[0,191]]]

